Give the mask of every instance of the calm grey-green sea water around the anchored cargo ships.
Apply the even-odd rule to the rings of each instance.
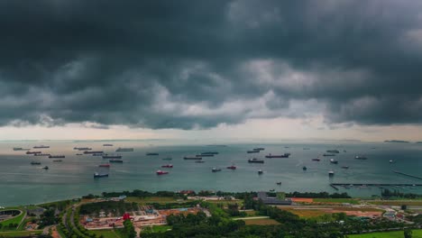
[[[104,147],[103,143],[113,143]],[[62,162],[26,155],[25,151],[13,151],[14,147],[32,148],[35,145],[50,145],[50,149],[33,149],[51,154],[64,154]],[[116,153],[117,147],[132,147],[133,152],[119,152],[124,163],[111,164],[110,169],[98,168],[107,160],[102,157],[83,155],[74,147],[91,147],[95,151]],[[264,147],[259,154],[247,154],[255,147]],[[304,150],[308,148],[309,150]],[[335,157],[323,157],[326,150],[339,150]],[[346,152],[344,152],[344,150]],[[184,156],[195,156],[204,151],[218,151],[215,157],[204,158],[196,163],[183,160]],[[147,152],[158,152],[159,156],[146,156]],[[264,159],[267,153],[290,152],[289,159]],[[368,160],[354,160],[355,155],[364,155]],[[321,161],[312,161],[320,157]],[[171,157],[173,160],[162,160]],[[265,160],[263,164],[250,164],[248,159]],[[337,165],[329,160],[338,160]],[[32,160],[41,165],[31,165]],[[390,164],[389,160],[395,163]],[[157,176],[161,165],[171,163],[170,174]],[[234,164],[236,170],[225,169]],[[49,166],[50,169],[41,169]],[[307,170],[302,169],[307,166]],[[341,169],[349,166],[349,169]],[[221,172],[213,173],[213,167]],[[264,173],[259,176],[257,171]],[[0,206],[39,204],[60,199],[101,194],[103,191],[142,189],[148,191],[181,189],[258,191],[275,188],[279,191],[327,191],[335,192],[330,182],[339,183],[422,183],[396,173],[396,169],[422,177],[422,144],[415,143],[280,143],[280,144],[227,144],[226,147],[206,145],[151,145],[150,142],[0,142]],[[334,170],[334,178],[328,171]],[[108,172],[108,178],[93,178],[94,172]],[[277,186],[276,182],[282,185]],[[402,192],[422,193],[422,188],[392,188]],[[340,188],[353,197],[379,195],[380,188]]]

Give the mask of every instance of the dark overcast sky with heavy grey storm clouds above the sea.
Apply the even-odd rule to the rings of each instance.
[[[422,141],[422,2],[0,2],[0,140]]]

